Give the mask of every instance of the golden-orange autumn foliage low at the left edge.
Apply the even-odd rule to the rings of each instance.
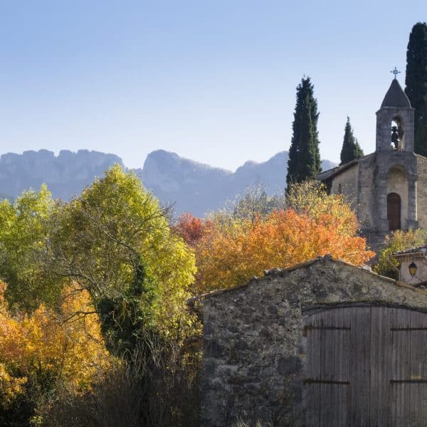
[[[0,283],[0,409],[13,406],[27,384],[88,390],[110,364],[88,292],[70,285],[57,310],[40,305],[28,315],[9,310],[5,290]]]

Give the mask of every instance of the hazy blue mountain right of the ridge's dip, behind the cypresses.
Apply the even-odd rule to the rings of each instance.
[[[329,160],[322,162],[323,170],[334,166]],[[148,154],[144,167],[135,172],[162,202],[174,203],[177,213],[191,211],[202,216],[244,194],[253,184],[263,185],[268,194],[283,192],[287,170],[285,151],[267,162],[246,162],[231,172],[157,150]]]

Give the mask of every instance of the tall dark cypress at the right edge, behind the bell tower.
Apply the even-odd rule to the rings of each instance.
[[[405,92],[415,108],[415,152],[427,157],[427,24],[412,27],[406,51]]]

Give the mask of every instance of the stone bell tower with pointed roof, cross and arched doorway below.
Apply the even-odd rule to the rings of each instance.
[[[408,97],[391,81],[376,112],[374,223],[379,232],[418,228],[417,160],[413,152],[413,115]]]

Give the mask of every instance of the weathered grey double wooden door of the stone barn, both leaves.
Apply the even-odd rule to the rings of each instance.
[[[427,315],[345,307],[305,317],[305,426],[427,426]]]

